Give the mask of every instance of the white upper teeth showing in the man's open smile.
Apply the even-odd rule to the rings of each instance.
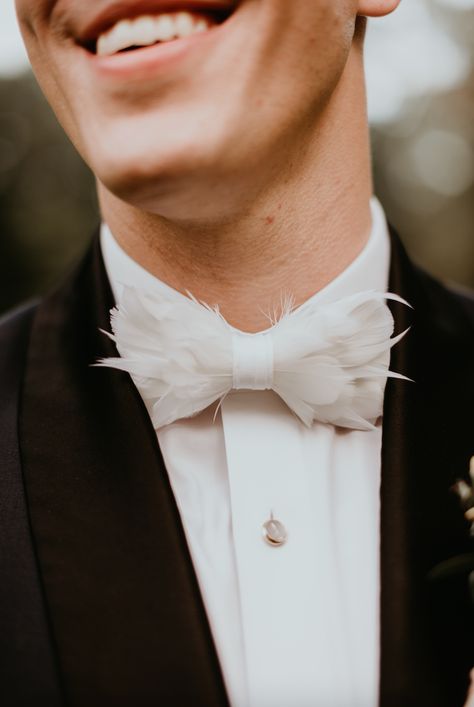
[[[222,25],[234,10],[235,5],[226,10],[180,10],[118,19],[80,44],[97,56],[114,56],[208,32]]]

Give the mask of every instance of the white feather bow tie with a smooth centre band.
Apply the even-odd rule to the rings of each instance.
[[[404,302],[375,291],[296,309],[287,302],[271,328],[246,334],[192,296],[126,288],[108,334],[121,358],[98,365],[130,373],[155,429],[242,389],[274,390],[307,426],[373,429],[387,377],[405,378],[389,371],[390,349],[406,332],[390,338],[386,299]]]

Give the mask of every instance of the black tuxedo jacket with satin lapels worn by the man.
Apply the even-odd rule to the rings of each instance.
[[[385,400],[380,705],[461,707],[467,577],[428,574],[471,550],[450,487],[474,454],[474,302],[392,249],[390,289],[414,308],[393,305],[412,330],[392,368],[415,382]],[[116,354],[112,304],[96,240],[0,325],[3,707],[228,704],[156,434],[129,376],[90,365]]]

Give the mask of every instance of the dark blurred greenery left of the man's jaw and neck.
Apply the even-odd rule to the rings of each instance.
[[[0,81],[0,311],[47,291],[98,224],[92,174],[30,73]]]

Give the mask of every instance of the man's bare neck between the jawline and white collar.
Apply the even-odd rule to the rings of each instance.
[[[177,222],[99,187],[104,220],[151,274],[218,304],[243,331],[264,329],[282,295],[295,305],[307,300],[357,257],[370,234],[370,150],[357,58],[315,122],[297,166],[231,216],[220,204],[216,218]]]

